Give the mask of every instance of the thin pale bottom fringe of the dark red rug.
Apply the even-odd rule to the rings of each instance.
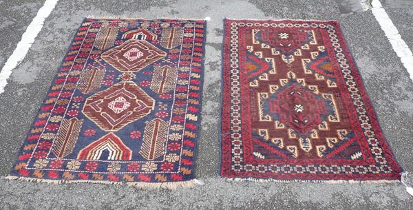
[[[387,183],[400,183],[400,180],[275,180],[272,178],[226,178],[229,182],[313,182],[313,183],[326,183],[326,184],[361,184],[361,183],[376,183],[376,184],[387,184]]]

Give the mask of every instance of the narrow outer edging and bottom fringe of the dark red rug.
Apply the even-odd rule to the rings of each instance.
[[[288,183],[288,182],[312,182],[312,183],[326,183],[326,184],[341,184],[341,183],[350,183],[350,184],[360,184],[360,183],[377,183],[377,184],[385,184],[385,183],[401,183],[401,174],[399,174],[399,179],[396,180],[388,180],[388,179],[377,179],[377,180],[354,180],[354,179],[348,179],[348,180],[343,180],[343,179],[320,179],[320,180],[304,180],[304,179],[275,179],[275,178],[255,178],[253,176],[247,176],[244,178],[239,178],[239,177],[232,177],[229,178],[227,176],[223,176],[222,175],[222,145],[224,144],[223,140],[222,140],[222,116],[223,116],[223,112],[224,112],[224,106],[223,106],[223,102],[224,102],[224,48],[225,48],[225,22],[226,20],[229,21],[317,21],[317,22],[330,22],[330,21],[335,21],[337,22],[337,27],[339,28],[340,32],[341,32],[341,36],[343,36],[343,42],[346,44],[346,48],[348,50],[348,52],[350,52],[350,59],[352,59],[352,63],[354,64],[354,66],[356,67],[357,73],[359,74],[359,77],[361,78],[361,82],[362,82],[362,87],[365,90],[367,96],[368,96],[368,102],[370,103],[372,110],[374,112],[374,115],[376,116],[376,121],[379,124],[379,129],[381,131],[381,133],[383,134],[383,138],[385,140],[385,143],[387,143],[390,152],[392,154],[392,157],[394,158],[394,162],[396,163],[396,166],[399,167],[400,169],[403,170],[403,168],[401,167],[399,161],[396,159],[396,156],[394,156],[394,149],[392,148],[392,145],[390,145],[390,143],[388,142],[387,138],[385,138],[384,133],[383,133],[383,129],[381,128],[381,124],[377,115],[376,110],[374,109],[374,106],[372,104],[372,101],[370,99],[370,95],[368,94],[367,90],[366,90],[366,85],[365,82],[363,80],[363,77],[360,74],[360,68],[356,63],[356,60],[354,59],[354,55],[352,54],[352,51],[350,50],[350,47],[348,45],[348,41],[346,39],[345,34],[343,33],[343,30],[341,29],[341,25],[339,24],[339,21],[337,20],[315,20],[315,19],[229,19],[229,18],[224,18],[223,20],[223,30],[222,30],[222,67],[221,67],[221,88],[222,88],[222,95],[221,95],[221,120],[220,120],[220,165],[219,165],[219,176],[221,176],[222,178],[225,178],[227,181],[229,182],[279,182],[279,183]],[[404,171],[404,170],[403,170]]]

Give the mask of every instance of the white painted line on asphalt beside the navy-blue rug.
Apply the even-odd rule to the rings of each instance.
[[[36,39],[37,34],[43,28],[43,23],[45,19],[49,17],[50,13],[56,6],[56,3],[59,0],[46,0],[40,10],[37,12],[36,17],[32,20],[32,22],[28,25],[25,32],[21,36],[21,41],[17,43],[16,49],[14,49],[12,55],[7,59],[6,63],[4,64],[3,68],[0,72],[0,94],[4,92],[4,87],[7,85],[7,80],[12,74],[12,70],[14,70],[21,61],[25,58],[26,54],[30,47],[32,46],[34,39]]]

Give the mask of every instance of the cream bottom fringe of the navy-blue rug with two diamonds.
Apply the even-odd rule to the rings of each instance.
[[[163,182],[163,183],[151,183],[151,182],[113,182],[113,181],[101,181],[101,180],[49,180],[42,178],[30,178],[21,176],[6,176],[4,177],[8,180],[23,180],[28,182],[36,183],[49,183],[49,184],[70,184],[70,183],[92,183],[92,184],[103,184],[103,185],[128,185],[134,186],[139,189],[170,189],[176,190],[180,187],[195,187],[202,186],[204,182],[202,180],[187,180],[182,182]]]

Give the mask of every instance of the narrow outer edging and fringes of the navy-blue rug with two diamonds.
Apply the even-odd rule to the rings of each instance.
[[[160,19],[145,19],[145,18],[138,18],[138,17],[123,17],[123,16],[104,16],[104,17],[98,17],[98,16],[87,16],[83,19],[83,21],[81,22],[81,25],[83,25],[83,23],[85,23],[85,21],[87,19],[120,19],[120,20],[136,20],[136,19],[142,19],[142,20],[146,20],[146,21],[161,21],[161,20],[184,20],[184,21],[203,21],[203,25],[204,25],[204,36],[203,36],[203,41],[202,41],[202,61],[200,63],[202,63],[202,77],[200,79],[201,81],[201,85],[200,85],[200,104],[198,105],[198,122],[196,123],[197,125],[197,129],[195,131],[195,138],[199,138],[199,134],[200,134],[200,125],[202,122],[202,92],[203,92],[203,87],[204,87],[204,74],[205,74],[205,44],[207,43],[207,20],[204,19],[168,19],[168,18],[160,18]],[[81,27],[81,25],[79,26],[79,28]],[[70,41],[70,45],[68,46],[65,54],[63,55],[63,58],[61,59],[61,63],[59,64],[59,67],[57,67],[56,69],[56,73],[54,75],[54,78],[52,81],[55,81],[56,78],[58,78],[58,74],[60,71],[60,67],[63,65],[63,63],[65,62],[65,57],[67,56],[68,52],[71,51],[72,48],[72,43],[75,41],[76,38],[76,34],[78,33],[78,28],[76,29],[76,32],[74,33],[74,37],[71,39]],[[48,92],[51,90],[52,86],[54,85],[54,83],[50,83],[50,87],[47,90],[47,92],[45,93],[45,97],[43,99],[43,102],[39,105],[39,109],[36,112],[36,116],[34,116],[34,120],[33,123],[30,124],[30,128],[28,129],[28,132],[26,134],[25,139],[23,140],[23,143],[19,149],[19,151],[17,152],[17,155],[19,155],[23,149],[23,147],[25,147],[25,141],[27,140],[27,136],[30,134],[30,130],[32,128],[32,125],[34,124],[34,121],[37,118],[37,114],[39,114],[39,112],[41,111],[41,107],[42,105],[45,103],[45,101],[47,100],[48,96]],[[133,186],[136,187],[138,189],[171,189],[171,190],[176,190],[179,187],[185,187],[185,188],[190,188],[190,187],[195,187],[195,186],[202,186],[204,185],[204,182],[202,180],[198,180],[195,177],[195,159],[198,155],[198,139],[195,139],[195,147],[194,147],[194,152],[193,152],[193,165],[192,165],[192,178],[190,180],[185,180],[185,181],[177,181],[177,182],[125,182],[125,181],[120,181],[120,182],[116,182],[116,181],[109,181],[109,180],[64,180],[64,179],[45,179],[45,178],[31,178],[31,177],[24,177],[24,176],[12,176],[9,175],[3,177],[3,179],[6,180],[23,180],[23,181],[28,181],[28,182],[36,182],[36,183],[52,183],[52,184],[76,184],[76,183],[93,183],[93,184],[103,184],[103,185],[128,185],[128,186]],[[19,162],[18,160],[16,160],[16,162]],[[16,166],[16,163],[14,163],[14,165],[12,166],[12,170],[14,169],[14,167]],[[11,171],[12,171],[11,170]]]

